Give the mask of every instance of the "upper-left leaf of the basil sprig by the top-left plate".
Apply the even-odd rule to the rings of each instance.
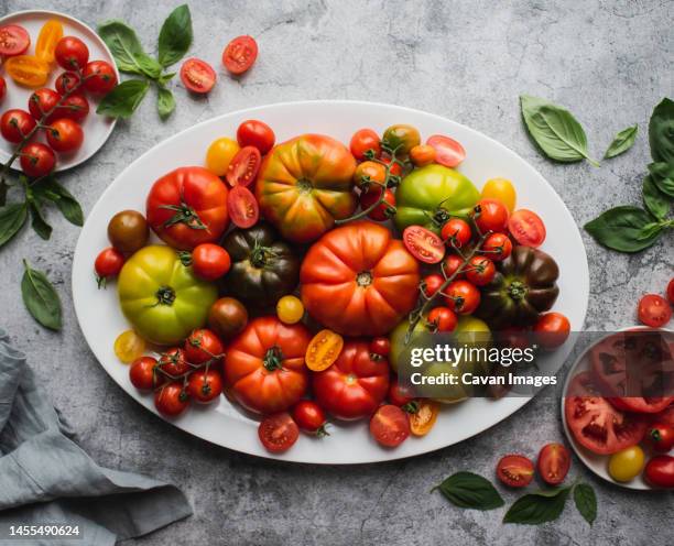
[[[135,32],[127,23],[118,20],[107,21],[98,28],[98,34],[110,48],[121,72],[154,79],[160,76],[161,65],[143,51]]]

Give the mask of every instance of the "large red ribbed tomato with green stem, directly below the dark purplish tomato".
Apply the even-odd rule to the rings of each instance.
[[[306,393],[304,354],[312,337],[300,324],[259,317],[227,348],[225,381],[229,392],[251,412],[283,412]]]

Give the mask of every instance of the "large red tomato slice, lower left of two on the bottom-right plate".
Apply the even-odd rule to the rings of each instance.
[[[635,446],[648,427],[644,416],[623,413],[600,396],[590,372],[580,372],[572,380],[564,415],[576,441],[598,455]]]

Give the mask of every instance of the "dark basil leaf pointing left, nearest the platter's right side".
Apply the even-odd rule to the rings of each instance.
[[[643,237],[643,229],[653,218],[639,207],[615,207],[585,225],[585,230],[597,242],[620,252],[638,252],[657,240],[660,231]]]

